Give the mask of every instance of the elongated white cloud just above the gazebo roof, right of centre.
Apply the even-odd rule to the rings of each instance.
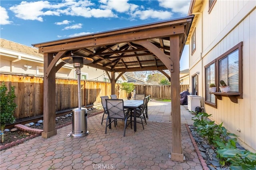
[[[157,18],[161,20],[167,20],[172,18],[172,12],[168,11],[154,11],[154,10],[144,10],[136,11],[132,14],[133,18],[140,18],[141,20],[146,20],[148,18]]]

